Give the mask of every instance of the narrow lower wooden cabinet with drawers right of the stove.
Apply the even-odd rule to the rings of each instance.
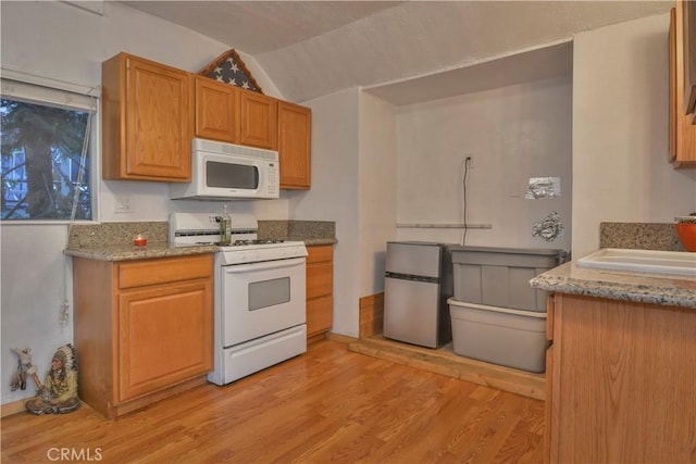
[[[307,338],[331,330],[334,316],[334,247],[307,247]]]

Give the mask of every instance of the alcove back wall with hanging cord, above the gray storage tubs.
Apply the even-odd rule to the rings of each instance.
[[[462,95],[398,110],[399,224],[461,224],[467,244],[570,250],[572,160],[570,76]],[[561,197],[525,200],[530,177],[561,178]],[[564,237],[532,226],[558,212]],[[461,243],[462,228],[399,228],[399,239]]]

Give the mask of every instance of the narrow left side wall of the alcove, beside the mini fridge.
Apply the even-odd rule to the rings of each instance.
[[[384,290],[386,243],[396,240],[396,108],[360,92],[360,297]]]

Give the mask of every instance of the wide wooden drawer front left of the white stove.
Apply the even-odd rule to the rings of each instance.
[[[119,288],[209,278],[212,271],[212,254],[133,261],[119,265]]]

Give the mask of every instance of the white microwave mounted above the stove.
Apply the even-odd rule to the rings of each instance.
[[[195,138],[190,184],[170,184],[170,198],[234,200],[279,197],[278,152]]]

